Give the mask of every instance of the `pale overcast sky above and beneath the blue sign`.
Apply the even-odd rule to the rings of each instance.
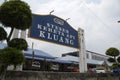
[[[4,0],[0,0],[2,3]],[[32,13],[52,13],[67,22],[76,30],[85,31],[86,49],[105,54],[106,49],[116,47],[120,50],[120,0],[23,0],[30,5]],[[29,47],[43,50],[53,56],[76,51],[76,49],[55,45],[39,40],[27,39]]]

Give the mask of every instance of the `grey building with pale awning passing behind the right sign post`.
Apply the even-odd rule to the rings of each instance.
[[[71,60],[74,62],[78,62],[79,53],[70,52],[62,54],[61,60]],[[112,64],[107,61],[109,56],[99,54],[96,52],[86,50],[86,58],[87,58],[87,68],[97,68],[103,67],[105,70],[109,70],[109,66]]]

